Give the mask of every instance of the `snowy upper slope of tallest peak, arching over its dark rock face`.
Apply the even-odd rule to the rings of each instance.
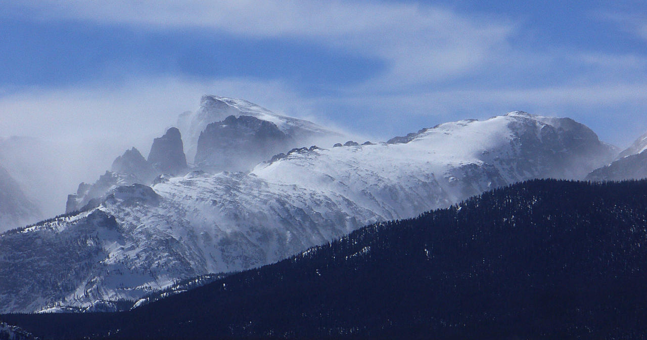
[[[194,161],[198,139],[208,124],[221,122],[229,116],[236,118],[250,116],[271,122],[290,137],[296,145],[320,144],[324,141],[331,141],[331,139],[342,138],[342,134],[338,132],[328,130],[307,120],[278,115],[247,100],[205,95],[202,97],[200,108],[197,111],[183,113],[177,122],[182,136],[184,136],[184,150],[188,161]],[[258,161],[262,161],[262,159]]]

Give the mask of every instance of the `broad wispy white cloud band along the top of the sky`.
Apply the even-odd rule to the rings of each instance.
[[[380,84],[437,82],[496,60],[514,26],[428,5],[369,1],[23,1],[29,17],[81,19],[152,29],[197,27],[245,38],[314,41],[377,57],[389,71]]]

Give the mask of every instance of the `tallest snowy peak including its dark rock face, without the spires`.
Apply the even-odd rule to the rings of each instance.
[[[180,115],[177,126],[188,161],[210,170],[247,171],[286,145],[329,144],[343,138],[336,131],[278,115],[247,100],[212,95],[202,97],[197,111]],[[250,146],[258,150],[250,153]]]

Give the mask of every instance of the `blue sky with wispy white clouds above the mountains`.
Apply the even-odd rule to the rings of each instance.
[[[644,1],[0,0],[0,13],[0,135],[145,150],[203,93],[382,140],[514,110],[619,146],[647,131]]]

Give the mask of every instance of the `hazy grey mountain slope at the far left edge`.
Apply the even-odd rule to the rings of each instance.
[[[38,221],[42,214],[18,183],[0,166],[0,232]]]

